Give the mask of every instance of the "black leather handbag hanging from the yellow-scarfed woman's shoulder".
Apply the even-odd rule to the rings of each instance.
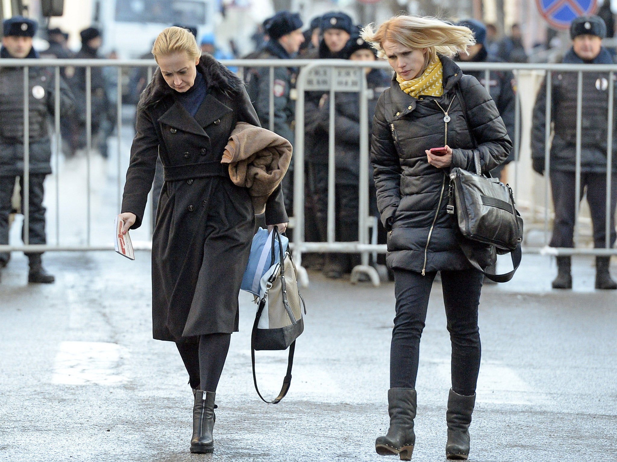
[[[478,144],[467,119],[467,108],[460,91],[458,100],[463,108],[467,128],[474,147]],[[455,215],[460,230],[459,244],[468,261],[487,278],[495,282],[508,282],[521,263],[523,219],[515,207],[514,195],[509,185],[497,178],[482,175],[479,154],[474,155],[475,172],[462,168],[450,171],[450,190],[447,212]],[[476,241],[494,246],[497,254],[510,253],[513,270],[505,274],[490,274],[484,271],[474,255]]]

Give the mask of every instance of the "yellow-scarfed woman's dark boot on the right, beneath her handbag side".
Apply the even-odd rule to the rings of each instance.
[[[445,456],[449,459],[467,460],[469,456],[469,426],[471,413],[476,403],[476,395],[459,395],[450,388],[448,410],[445,421],[448,424],[448,442]]]

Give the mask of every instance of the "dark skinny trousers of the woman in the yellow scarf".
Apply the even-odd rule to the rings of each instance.
[[[420,336],[436,272],[426,276],[394,270],[396,316],[390,349],[390,387],[415,388],[420,355]],[[442,271],[447,328],[452,342],[452,389],[460,395],[476,392],[480,370],[478,304],[481,272]]]

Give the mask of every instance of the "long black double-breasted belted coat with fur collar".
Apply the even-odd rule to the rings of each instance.
[[[159,340],[238,330],[238,293],[255,229],[247,189],[231,182],[220,161],[236,123],[259,126],[259,119],[242,81],[212,56],[202,56],[197,71],[207,95],[194,117],[160,70],[141,95],[122,201],[138,228],[160,156],[165,184],[152,238],[152,331]],[[280,187],[265,218],[288,221]]]

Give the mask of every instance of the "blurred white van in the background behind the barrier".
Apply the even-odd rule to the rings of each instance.
[[[150,51],[164,28],[197,26],[197,39],[213,31],[215,0],[94,0],[93,26],[103,33],[102,53],[115,50],[121,59]]]

